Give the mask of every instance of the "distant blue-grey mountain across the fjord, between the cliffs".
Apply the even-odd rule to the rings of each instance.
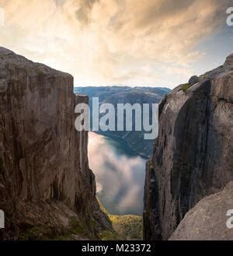
[[[99,103],[111,103],[117,109],[118,103],[159,103],[164,96],[170,92],[168,88],[151,88],[151,87],[75,87],[76,94],[88,95],[90,107],[92,107],[92,98],[99,97]],[[116,114],[117,120],[117,114]],[[124,120],[125,122],[125,120]],[[116,129],[117,130],[117,129]],[[134,130],[134,129],[133,129]],[[145,131],[141,132],[102,132],[99,133],[107,136],[118,137],[126,142],[130,149],[136,153],[148,158],[151,156],[154,140],[144,140]]]

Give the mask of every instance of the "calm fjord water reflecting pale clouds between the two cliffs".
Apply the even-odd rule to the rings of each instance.
[[[142,214],[145,163],[122,139],[89,132],[89,166],[97,195],[111,214]]]

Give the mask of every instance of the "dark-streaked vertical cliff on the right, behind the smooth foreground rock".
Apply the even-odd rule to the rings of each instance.
[[[144,191],[146,240],[168,240],[200,199],[233,180],[233,55],[199,79],[159,107]]]

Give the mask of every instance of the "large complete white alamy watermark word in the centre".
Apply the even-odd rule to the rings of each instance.
[[[144,132],[144,139],[156,139],[158,136],[158,104],[157,103],[110,103],[99,104],[99,98],[92,99],[92,111],[88,104],[79,103],[75,107],[79,116],[75,119],[78,132],[99,130],[117,132]],[[92,113],[92,117],[90,114]],[[91,125],[92,121],[92,125]]]

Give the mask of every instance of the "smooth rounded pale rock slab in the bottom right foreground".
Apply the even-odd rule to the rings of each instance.
[[[186,213],[170,240],[233,240],[233,218],[227,216],[233,212],[232,195],[233,181],[224,191],[203,198]]]

